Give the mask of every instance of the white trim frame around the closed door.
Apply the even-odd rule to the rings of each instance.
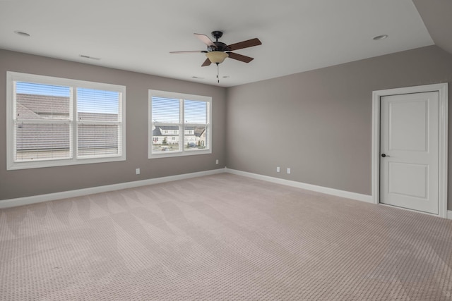
[[[372,92],[372,200],[380,204],[380,98],[397,94],[420,92],[439,92],[439,177],[438,214],[430,214],[447,219],[447,121],[448,121],[448,83],[402,87]],[[421,212],[421,211],[417,211]],[[422,212],[424,214],[428,214]]]

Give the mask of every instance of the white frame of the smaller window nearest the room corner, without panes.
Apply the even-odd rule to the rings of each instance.
[[[153,118],[152,118],[152,103],[153,97],[164,97],[164,98],[172,98],[179,99],[179,114],[181,115],[182,123],[168,123],[167,125],[179,125],[179,143],[182,142],[182,147],[179,151],[172,152],[153,152]],[[185,136],[185,123],[184,123],[184,99],[208,102],[208,122],[206,124],[199,124],[200,126],[207,126],[208,128],[208,148],[206,149],[184,149],[184,136]],[[212,154],[212,97],[194,95],[194,94],[184,94],[177,92],[167,92],[167,91],[159,91],[159,90],[149,90],[148,96],[148,159],[156,159],[156,158],[167,158],[172,156],[191,156],[191,155],[199,155],[199,154]],[[189,125],[197,125],[193,123],[189,123]]]

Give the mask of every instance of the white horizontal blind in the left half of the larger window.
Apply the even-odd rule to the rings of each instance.
[[[71,87],[16,82],[15,161],[71,158]]]

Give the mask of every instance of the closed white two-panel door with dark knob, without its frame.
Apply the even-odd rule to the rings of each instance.
[[[380,102],[380,202],[438,214],[439,92]]]

